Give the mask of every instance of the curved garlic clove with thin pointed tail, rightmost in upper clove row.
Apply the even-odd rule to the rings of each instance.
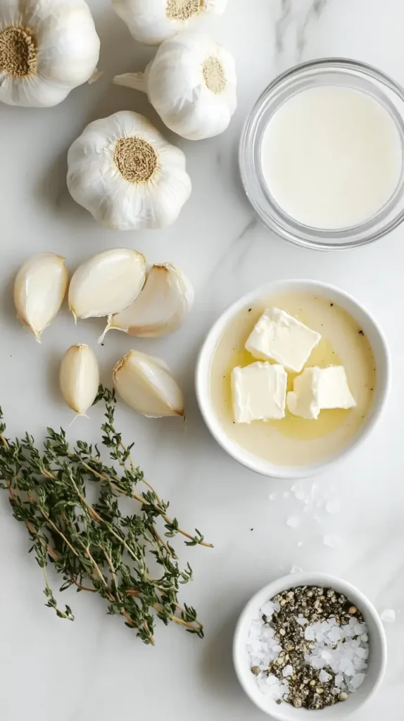
[[[153,265],[145,287],[135,302],[113,315],[110,329],[123,330],[143,338],[173,333],[184,322],[194,301],[194,291],[184,273],[171,263]]]

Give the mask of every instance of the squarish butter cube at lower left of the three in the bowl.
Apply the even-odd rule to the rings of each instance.
[[[235,423],[284,418],[287,373],[282,366],[251,363],[231,374]]]

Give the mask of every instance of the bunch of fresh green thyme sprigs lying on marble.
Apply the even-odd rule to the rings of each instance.
[[[25,523],[33,541],[30,551],[35,551],[45,576],[46,605],[60,618],[73,620],[70,607],[60,610],[53,596],[46,572],[50,562],[63,576],[61,591],[75,585],[78,591],[99,593],[108,602],[108,613],[122,614],[145,643],[154,643],[155,615],[166,625],[173,621],[202,638],[196,611],[178,605],[179,584],[192,580],[192,569],[189,564],[179,569],[167,539],[182,534],[187,546],[210,544],[199,531],[187,534],[176,518],[167,516],[169,504],[133,464],[133,443],[125,448],[115,430],[114,392],[100,386],[95,402],[99,401],[106,408],[102,444],[117,467],[102,462],[97,446],[77,441],[71,448],[64,430],[55,433],[48,428],[42,452],[28,434],[13,443],[4,435],[0,409],[0,487],[9,492],[14,518]],[[137,492],[141,483],[146,488]],[[89,500],[90,484],[95,502]],[[137,502],[132,516],[120,510],[122,496]],[[163,521],[166,538],[157,521]],[[161,567],[158,578],[148,570],[149,552]]]

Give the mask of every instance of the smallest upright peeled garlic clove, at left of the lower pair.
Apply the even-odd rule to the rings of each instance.
[[[89,345],[71,345],[63,355],[59,371],[60,391],[68,407],[86,415],[99,388],[99,368]]]

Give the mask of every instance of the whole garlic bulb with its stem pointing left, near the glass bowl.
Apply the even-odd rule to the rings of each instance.
[[[144,73],[114,82],[146,92],[167,128],[188,140],[223,133],[237,107],[233,56],[194,32],[166,40]]]

